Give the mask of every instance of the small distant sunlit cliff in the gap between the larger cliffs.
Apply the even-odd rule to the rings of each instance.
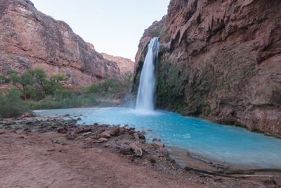
[[[135,62],[131,61],[129,58],[111,56],[105,53],[101,54],[103,55],[103,58],[109,61],[116,62],[122,75],[124,75],[125,73],[133,73]]]

